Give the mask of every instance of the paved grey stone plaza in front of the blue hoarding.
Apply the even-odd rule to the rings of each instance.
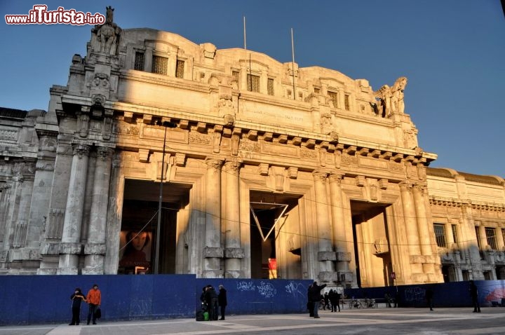
[[[308,315],[236,315],[225,321],[192,319],[105,322],[96,326],[37,325],[0,327],[0,335],[77,334],[504,334],[505,308],[378,308],[321,311],[321,319]]]

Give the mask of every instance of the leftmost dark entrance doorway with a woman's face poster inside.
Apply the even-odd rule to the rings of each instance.
[[[177,212],[189,201],[189,185],[163,184],[160,232],[160,184],[126,179],[119,236],[118,274],[152,273],[156,234],[160,233],[159,273],[175,273]]]

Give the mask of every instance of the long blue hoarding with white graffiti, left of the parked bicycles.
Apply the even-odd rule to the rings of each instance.
[[[65,323],[70,295],[97,284],[102,320],[194,317],[203,286],[227,289],[227,315],[304,313],[311,280],[201,279],[195,275],[4,275],[0,276],[0,325]],[[88,305],[81,306],[86,322]]]

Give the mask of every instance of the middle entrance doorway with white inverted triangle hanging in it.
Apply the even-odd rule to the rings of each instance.
[[[250,193],[251,278],[302,277],[298,198],[288,194]]]

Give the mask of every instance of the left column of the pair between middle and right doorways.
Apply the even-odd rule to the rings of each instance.
[[[328,212],[328,196],[326,196],[326,179],[328,173],[314,173],[314,191],[316,193],[316,226],[318,238],[318,261],[320,266],[319,280],[333,280],[334,265],[337,260],[332,249],[332,230],[330,213]]]

